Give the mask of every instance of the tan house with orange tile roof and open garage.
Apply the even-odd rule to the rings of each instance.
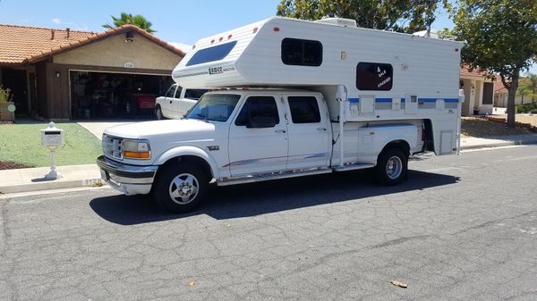
[[[134,93],[166,92],[182,50],[124,25],[104,32],[0,25],[0,85],[17,115],[110,118]]]

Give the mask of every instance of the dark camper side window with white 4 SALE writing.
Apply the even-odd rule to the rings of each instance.
[[[356,88],[368,91],[389,91],[393,86],[394,68],[389,63],[358,63]]]

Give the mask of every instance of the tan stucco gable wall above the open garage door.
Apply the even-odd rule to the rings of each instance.
[[[124,68],[132,63],[134,68],[172,71],[181,57],[158,46],[148,38],[134,33],[134,43],[125,43],[125,35],[81,46],[54,57],[54,63],[107,66]]]

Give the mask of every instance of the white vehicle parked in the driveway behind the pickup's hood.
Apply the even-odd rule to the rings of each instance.
[[[205,92],[207,89],[183,88],[174,84],[168,88],[166,96],[157,98],[155,116],[158,120],[180,119]]]

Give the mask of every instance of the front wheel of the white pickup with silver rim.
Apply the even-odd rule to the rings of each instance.
[[[200,205],[209,177],[191,163],[176,163],[161,171],[155,186],[158,205],[175,213],[185,213]]]

